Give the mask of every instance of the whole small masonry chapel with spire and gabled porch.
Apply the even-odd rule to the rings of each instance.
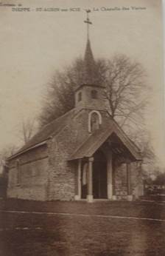
[[[8,198],[91,203],[142,195],[140,149],[110,116],[105,87],[91,81],[94,61],[88,38],[75,106],[8,159]]]

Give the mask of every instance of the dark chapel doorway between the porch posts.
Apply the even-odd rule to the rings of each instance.
[[[102,151],[94,154],[93,195],[95,199],[108,198],[107,159]]]

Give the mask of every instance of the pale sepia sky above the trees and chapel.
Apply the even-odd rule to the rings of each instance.
[[[27,9],[18,9],[20,3],[19,8]],[[165,166],[163,27],[158,0],[1,0],[0,150],[18,144],[21,121],[40,113],[55,70],[84,54],[85,9],[91,9],[95,58],[124,53],[144,66],[152,92],[146,126]]]

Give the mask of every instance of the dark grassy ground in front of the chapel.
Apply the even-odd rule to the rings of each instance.
[[[28,205],[33,210],[42,206],[43,212],[165,219],[165,207],[157,203],[22,202],[19,207]],[[15,230],[26,226],[28,230]],[[8,228],[0,232],[1,256],[165,255],[165,222],[1,212],[0,228]]]

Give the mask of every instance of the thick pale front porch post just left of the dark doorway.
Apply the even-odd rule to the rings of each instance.
[[[88,203],[93,202],[93,161],[94,158],[88,158]]]

